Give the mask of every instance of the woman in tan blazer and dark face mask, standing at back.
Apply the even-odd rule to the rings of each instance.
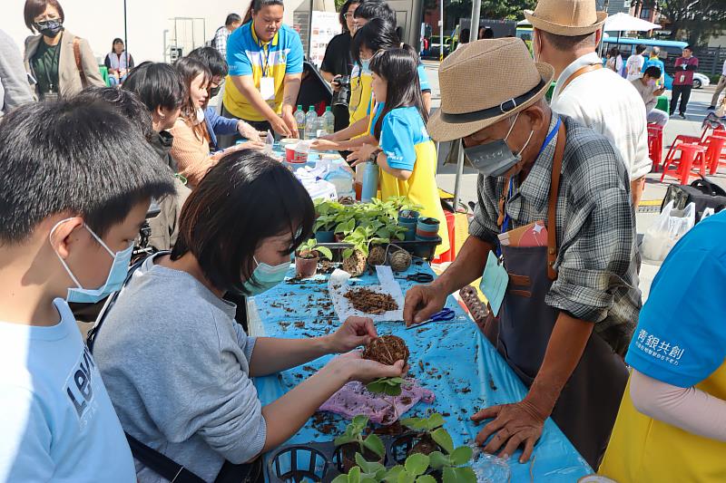
[[[34,79],[38,100],[70,97],[90,85],[106,85],[87,40],[64,27],[63,7],[57,0],[26,0],[25,71]]]

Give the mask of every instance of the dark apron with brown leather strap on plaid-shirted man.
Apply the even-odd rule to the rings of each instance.
[[[547,210],[548,246],[502,246],[509,285],[498,320],[487,329],[496,349],[527,387],[535,381],[558,310],[544,303],[556,273],[556,205],[565,143],[557,134]],[[613,430],[628,372],[623,360],[593,333],[557,400],[552,419],[591,467],[597,469]]]

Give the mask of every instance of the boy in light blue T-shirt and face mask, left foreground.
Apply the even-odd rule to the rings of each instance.
[[[75,100],[7,114],[0,164],[0,481],[132,482],[66,301],[120,288],[150,199],[172,192],[169,172],[120,113]]]

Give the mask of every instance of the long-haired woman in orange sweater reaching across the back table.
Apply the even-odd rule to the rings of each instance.
[[[182,105],[182,115],[170,130],[174,137],[171,153],[179,166],[179,174],[187,179],[190,188],[194,188],[225,155],[236,150],[261,150],[264,144],[250,141],[211,153],[210,134],[204,121],[211,72],[203,63],[188,57],[180,59],[174,67],[182,75],[188,95]]]

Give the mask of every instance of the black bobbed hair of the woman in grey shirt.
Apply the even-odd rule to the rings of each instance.
[[[242,278],[256,284],[253,256],[265,238],[289,233],[289,255],[311,236],[314,221],[308,191],[289,169],[260,151],[235,151],[184,203],[172,260],[191,253],[211,285],[249,295]]]

